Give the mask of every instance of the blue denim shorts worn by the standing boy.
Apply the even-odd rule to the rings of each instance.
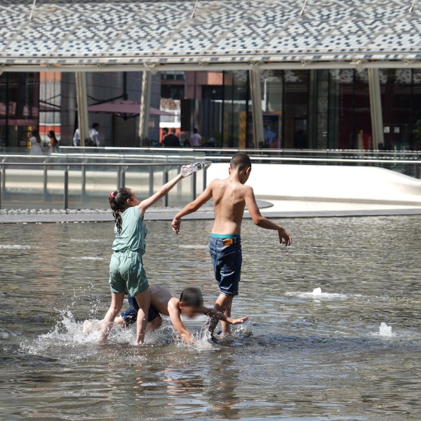
[[[226,239],[232,244],[224,246]],[[225,241],[226,242],[226,241]],[[218,281],[220,292],[225,295],[238,295],[241,276],[241,238],[236,236],[210,236],[209,253],[215,269],[215,279]]]

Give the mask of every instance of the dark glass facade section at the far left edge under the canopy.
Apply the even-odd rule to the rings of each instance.
[[[25,147],[39,123],[39,73],[0,76],[0,146]]]

